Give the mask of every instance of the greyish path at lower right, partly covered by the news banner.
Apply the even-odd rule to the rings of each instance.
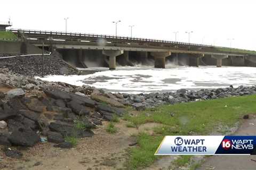
[[[244,120],[242,125],[235,132],[235,135],[256,135],[256,116],[251,116],[248,120]],[[255,170],[255,156],[211,156],[206,158],[203,165],[197,170],[211,169],[214,170]]]

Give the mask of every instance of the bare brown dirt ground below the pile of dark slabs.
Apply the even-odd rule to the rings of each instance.
[[[116,123],[118,132],[106,132],[108,122],[94,130],[92,138],[83,138],[73,149],[60,149],[53,147],[53,143],[38,143],[32,148],[22,150],[21,159],[11,159],[4,156],[0,148],[0,169],[22,170],[111,170],[124,169],[127,161],[129,144],[134,143],[133,134],[147,131],[158,126],[157,123],[146,123],[137,128],[127,128],[126,123]],[[19,148],[21,150],[21,148]]]

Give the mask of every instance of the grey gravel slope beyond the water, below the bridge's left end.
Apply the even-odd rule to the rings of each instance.
[[[0,68],[7,68],[15,74],[27,76],[71,75],[78,71],[65,63],[57,52],[42,56],[18,56],[6,58],[10,54],[0,54]]]

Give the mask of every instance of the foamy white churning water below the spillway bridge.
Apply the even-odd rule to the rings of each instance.
[[[52,75],[42,80],[60,81],[76,86],[83,84],[111,92],[173,91],[181,88],[203,89],[256,85],[255,67],[117,67],[116,70],[100,71],[87,75]]]

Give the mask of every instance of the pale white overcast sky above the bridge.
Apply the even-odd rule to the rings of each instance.
[[[2,1],[0,21],[13,22],[12,28],[67,30],[188,42],[185,31],[193,31],[190,43],[256,50],[256,2],[250,0],[12,0]]]

